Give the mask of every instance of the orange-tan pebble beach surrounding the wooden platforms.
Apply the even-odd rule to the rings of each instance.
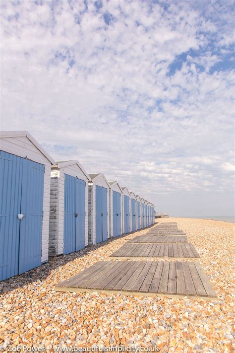
[[[0,346],[5,350],[9,345],[42,347],[47,352],[73,346],[157,347],[164,353],[233,352],[235,224],[175,217],[156,222],[177,222],[178,229],[187,234],[217,299],[54,290],[56,284],[97,261],[117,261],[109,256],[127,240],[146,232],[141,230],[59,256],[0,282]]]

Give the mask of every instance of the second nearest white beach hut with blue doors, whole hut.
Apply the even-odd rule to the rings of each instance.
[[[52,166],[49,256],[69,254],[88,245],[89,180],[77,160]]]

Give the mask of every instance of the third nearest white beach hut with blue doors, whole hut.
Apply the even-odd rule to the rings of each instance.
[[[109,188],[103,173],[89,174],[88,243],[98,244],[110,237]]]

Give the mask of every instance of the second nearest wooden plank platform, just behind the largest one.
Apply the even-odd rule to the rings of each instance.
[[[124,244],[111,257],[128,258],[199,258],[191,243],[174,244]]]

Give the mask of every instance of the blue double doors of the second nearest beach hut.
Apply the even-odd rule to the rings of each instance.
[[[85,247],[84,180],[64,174],[63,253],[70,254]]]

